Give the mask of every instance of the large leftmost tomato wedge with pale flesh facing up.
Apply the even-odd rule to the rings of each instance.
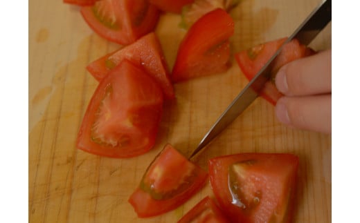
[[[107,157],[133,157],[154,146],[163,93],[141,68],[123,60],[96,88],[77,146]]]

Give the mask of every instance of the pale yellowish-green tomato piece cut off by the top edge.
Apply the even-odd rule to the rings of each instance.
[[[190,28],[197,19],[217,8],[229,11],[239,3],[239,0],[195,0],[184,6],[181,11],[181,27]]]

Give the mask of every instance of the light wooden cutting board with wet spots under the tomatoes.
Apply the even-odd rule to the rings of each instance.
[[[233,52],[289,36],[320,0],[241,0],[231,11]],[[174,211],[139,219],[127,202],[145,168],[166,143],[189,153],[248,83],[233,59],[223,74],[175,84],[177,99],[165,103],[156,145],[145,155],[111,159],[75,148],[80,122],[97,81],[89,62],[118,49],[94,34],[79,8],[61,0],[29,4],[29,221],[176,222],[206,195],[207,185]],[[185,34],[181,17],[163,14],[156,34],[172,68]],[[331,47],[331,26],[311,45]],[[280,124],[273,106],[256,101],[217,137],[197,163],[242,152],[294,153],[300,157],[295,222],[331,222],[331,136]]]

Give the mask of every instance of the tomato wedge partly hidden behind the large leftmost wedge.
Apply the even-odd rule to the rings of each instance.
[[[165,61],[159,39],[154,32],[150,32],[116,52],[111,52],[93,61],[87,66],[87,70],[100,81],[107,76],[109,70],[115,68],[123,59],[128,59],[136,66],[143,67],[143,70],[161,86],[167,99],[175,97],[168,64]]]

